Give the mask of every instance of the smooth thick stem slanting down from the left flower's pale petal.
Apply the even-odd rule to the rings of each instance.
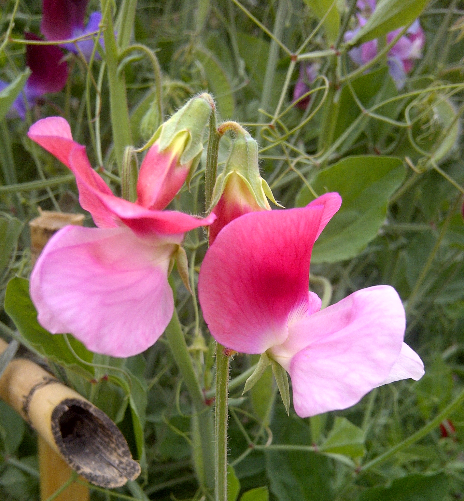
[[[214,486],[214,447],[211,410],[205,403],[203,391],[195,373],[176,310],[174,310],[171,322],[166,328],[166,339],[189,391],[193,407],[198,414],[198,427],[203,453],[203,476],[206,486],[212,488]]]

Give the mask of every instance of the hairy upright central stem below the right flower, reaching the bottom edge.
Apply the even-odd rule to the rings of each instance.
[[[229,403],[229,356],[216,345],[216,501],[227,501],[227,420]]]

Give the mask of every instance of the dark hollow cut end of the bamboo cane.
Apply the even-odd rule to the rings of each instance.
[[[55,407],[52,433],[66,462],[96,485],[120,487],[140,475],[119,428],[86,400],[68,398]]]

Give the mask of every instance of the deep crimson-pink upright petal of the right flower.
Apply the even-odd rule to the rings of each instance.
[[[221,230],[198,284],[217,341],[245,353],[285,341],[288,316],[307,308],[309,260],[323,213],[324,204],[317,203],[249,212]]]

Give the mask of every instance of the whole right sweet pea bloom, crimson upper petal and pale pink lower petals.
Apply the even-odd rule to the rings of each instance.
[[[372,388],[419,379],[423,364],[403,343],[396,291],[375,286],[320,311],[309,261],[341,199],[326,193],[303,208],[250,212],[217,235],[198,292],[211,334],[233,350],[266,353],[290,374],[300,417],[358,402]]]

